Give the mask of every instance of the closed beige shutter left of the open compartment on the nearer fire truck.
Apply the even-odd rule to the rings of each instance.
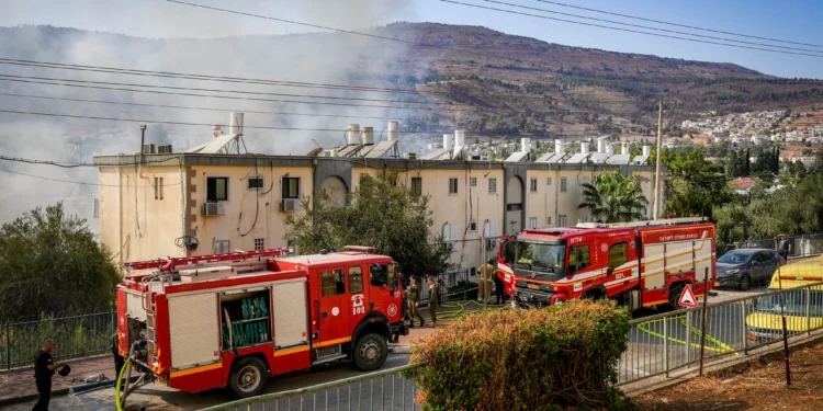
[[[171,368],[196,367],[219,361],[217,295],[168,295]]]

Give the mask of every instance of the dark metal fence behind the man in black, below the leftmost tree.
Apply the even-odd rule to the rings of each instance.
[[[5,369],[34,365],[34,354],[45,339],[56,345],[60,359],[103,354],[110,351],[116,331],[114,311],[42,317],[37,320],[0,324],[0,367]]]

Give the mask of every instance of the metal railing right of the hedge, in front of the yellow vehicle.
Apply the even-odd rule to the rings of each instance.
[[[711,304],[706,310],[704,362],[740,356],[780,342],[786,315],[789,338],[823,328],[823,283]],[[619,384],[696,367],[701,356],[702,307],[631,322],[629,349],[618,367]]]

